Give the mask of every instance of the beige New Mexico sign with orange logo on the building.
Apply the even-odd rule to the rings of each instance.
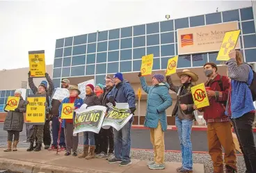
[[[177,29],[178,54],[218,51],[225,32],[239,29],[238,22],[226,22]],[[236,49],[240,49],[240,39]]]

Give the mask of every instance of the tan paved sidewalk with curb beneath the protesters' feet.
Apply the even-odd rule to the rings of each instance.
[[[144,172],[176,172],[181,163],[166,163],[165,170],[149,170],[147,160],[132,160],[127,167],[118,164],[109,164],[104,158],[86,160],[73,156],[64,156],[64,152],[56,155],[54,151],[42,150],[27,152],[19,149],[17,152],[4,152],[0,150],[0,169],[24,173],[144,173]],[[194,173],[204,173],[204,165],[194,164]]]

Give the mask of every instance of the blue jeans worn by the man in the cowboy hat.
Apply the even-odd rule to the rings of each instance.
[[[179,120],[179,117],[176,116],[175,124],[179,135],[179,144],[182,149],[182,167],[186,170],[192,170],[191,129],[193,120]]]

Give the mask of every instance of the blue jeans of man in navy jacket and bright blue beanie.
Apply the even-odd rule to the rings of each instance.
[[[134,118],[131,117],[131,120],[120,131],[114,129],[114,154],[115,158],[122,161],[131,161],[131,124],[133,120]]]

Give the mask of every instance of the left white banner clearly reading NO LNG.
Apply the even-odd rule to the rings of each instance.
[[[106,107],[91,106],[86,108],[86,106],[82,105],[81,108],[76,110],[73,134],[83,131],[99,133],[99,130],[102,127],[104,115],[106,114]]]

